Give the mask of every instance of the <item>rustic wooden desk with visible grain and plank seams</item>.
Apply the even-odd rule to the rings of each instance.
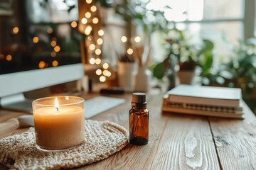
[[[124,97],[127,102],[92,120],[110,120],[128,129],[131,94],[115,97]],[[127,145],[107,159],[78,169],[256,169],[256,118],[244,102],[244,120],[161,113],[159,91],[147,94],[147,106],[147,145]],[[0,111],[0,122],[22,114]]]

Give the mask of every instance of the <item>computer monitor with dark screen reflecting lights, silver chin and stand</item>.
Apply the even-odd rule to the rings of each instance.
[[[0,2],[1,107],[31,112],[23,92],[82,79],[80,34],[70,23],[78,8],[68,12],[59,1]],[[63,3],[63,1],[61,1]],[[69,1],[72,5],[72,1]],[[76,3],[74,0],[73,3]]]

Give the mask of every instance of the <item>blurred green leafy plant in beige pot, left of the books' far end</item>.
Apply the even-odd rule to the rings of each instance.
[[[170,73],[177,73],[180,84],[191,84],[195,77],[196,68],[201,71],[201,75],[210,72],[213,65],[213,42],[200,40],[198,43],[191,43],[184,31],[176,28],[169,31],[169,34],[171,36],[166,39],[168,57],[163,63],[156,65],[156,69],[153,69],[153,75],[161,79],[161,76],[170,77]],[[178,69],[175,69],[176,66]],[[175,79],[171,79],[173,80],[170,80],[172,85],[169,89],[176,84]]]

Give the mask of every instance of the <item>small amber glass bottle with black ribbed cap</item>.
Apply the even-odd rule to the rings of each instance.
[[[146,94],[132,94],[132,108],[129,110],[129,142],[145,145],[149,141],[149,111],[146,109]]]

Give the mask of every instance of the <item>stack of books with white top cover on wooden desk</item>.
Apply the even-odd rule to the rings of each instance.
[[[162,111],[242,118],[241,89],[181,84],[163,98]]]

